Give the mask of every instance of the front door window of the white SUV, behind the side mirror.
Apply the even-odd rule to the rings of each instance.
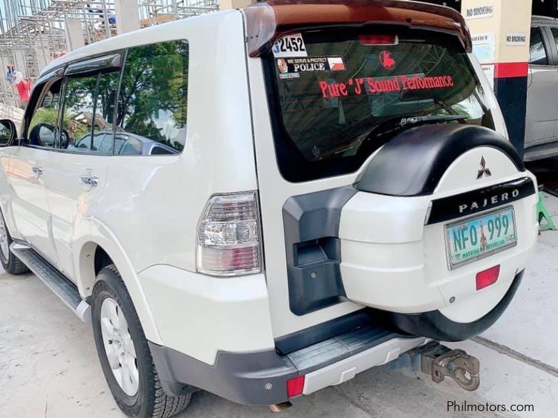
[[[30,145],[54,148],[61,85],[62,81],[58,80],[47,86],[43,99],[33,112],[27,129]]]

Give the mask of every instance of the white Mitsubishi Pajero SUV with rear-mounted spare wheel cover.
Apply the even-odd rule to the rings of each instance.
[[[462,17],[257,3],[77,49],[1,121],[1,261],[133,417],[276,405],[506,309],[537,236]]]

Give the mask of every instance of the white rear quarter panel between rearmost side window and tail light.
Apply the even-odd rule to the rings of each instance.
[[[241,14],[176,26],[168,28],[173,37],[190,46],[184,150],[111,157],[96,213],[137,272],[155,264],[195,271],[197,222],[209,197],[257,189]]]

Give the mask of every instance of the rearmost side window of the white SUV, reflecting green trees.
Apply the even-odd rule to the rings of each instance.
[[[181,152],[186,142],[187,93],[188,42],[160,42],[128,49],[116,130],[133,134],[130,138],[141,144],[134,144],[132,152],[133,142],[128,139],[120,150],[116,145],[115,154],[143,154],[153,143]]]

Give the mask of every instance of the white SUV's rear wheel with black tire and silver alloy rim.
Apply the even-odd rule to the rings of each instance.
[[[97,276],[91,295],[91,322],[101,368],[114,401],[124,414],[167,418],[188,406],[191,394],[172,397],[163,392],[140,319],[114,264],[103,268]],[[120,328],[115,323],[124,325]]]

